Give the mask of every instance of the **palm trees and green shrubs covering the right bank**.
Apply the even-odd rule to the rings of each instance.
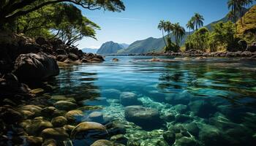
[[[163,53],[148,53],[149,55],[182,55],[211,57],[250,57],[256,52],[255,20],[256,6],[249,7],[252,1],[229,0],[227,15],[229,21],[212,24],[213,30],[203,26],[203,15],[195,15],[187,23],[189,36],[181,45],[181,39],[186,32],[179,23],[160,20],[158,29],[162,31],[165,42]],[[165,32],[167,35],[165,36]],[[174,36],[173,40],[171,36]],[[146,55],[148,55],[146,54]]]

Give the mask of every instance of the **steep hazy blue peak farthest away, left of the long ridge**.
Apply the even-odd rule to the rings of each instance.
[[[119,45],[116,42],[110,41],[102,44],[102,46],[97,51],[97,54],[110,55],[110,54],[115,54],[118,52],[118,50],[122,50],[122,49],[124,49],[122,45]]]

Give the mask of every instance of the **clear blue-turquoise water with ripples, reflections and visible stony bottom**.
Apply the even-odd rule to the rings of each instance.
[[[50,94],[75,98],[86,109],[80,121],[97,111],[104,118],[97,122],[120,123],[126,128],[127,145],[168,145],[172,134],[175,145],[255,144],[255,62],[228,58],[139,61],[150,58],[106,57],[102,64],[63,66],[51,82],[58,88]],[[121,101],[125,92],[132,99]],[[125,106],[132,104],[159,115],[127,118]]]

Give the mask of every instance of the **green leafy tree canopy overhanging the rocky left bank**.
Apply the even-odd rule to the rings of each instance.
[[[29,37],[56,37],[72,45],[83,37],[95,37],[97,24],[81,10],[124,10],[121,0],[10,0],[0,2],[0,29]]]

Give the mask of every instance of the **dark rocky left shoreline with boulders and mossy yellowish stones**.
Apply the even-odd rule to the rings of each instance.
[[[83,53],[59,39],[0,37],[0,145],[71,145],[70,139],[81,137],[95,139],[88,145],[115,145],[103,139],[123,134],[122,128],[94,121],[100,114],[78,122],[83,111],[75,99],[48,94],[54,90],[48,80],[59,74],[60,65],[100,63],[102,55]]]

